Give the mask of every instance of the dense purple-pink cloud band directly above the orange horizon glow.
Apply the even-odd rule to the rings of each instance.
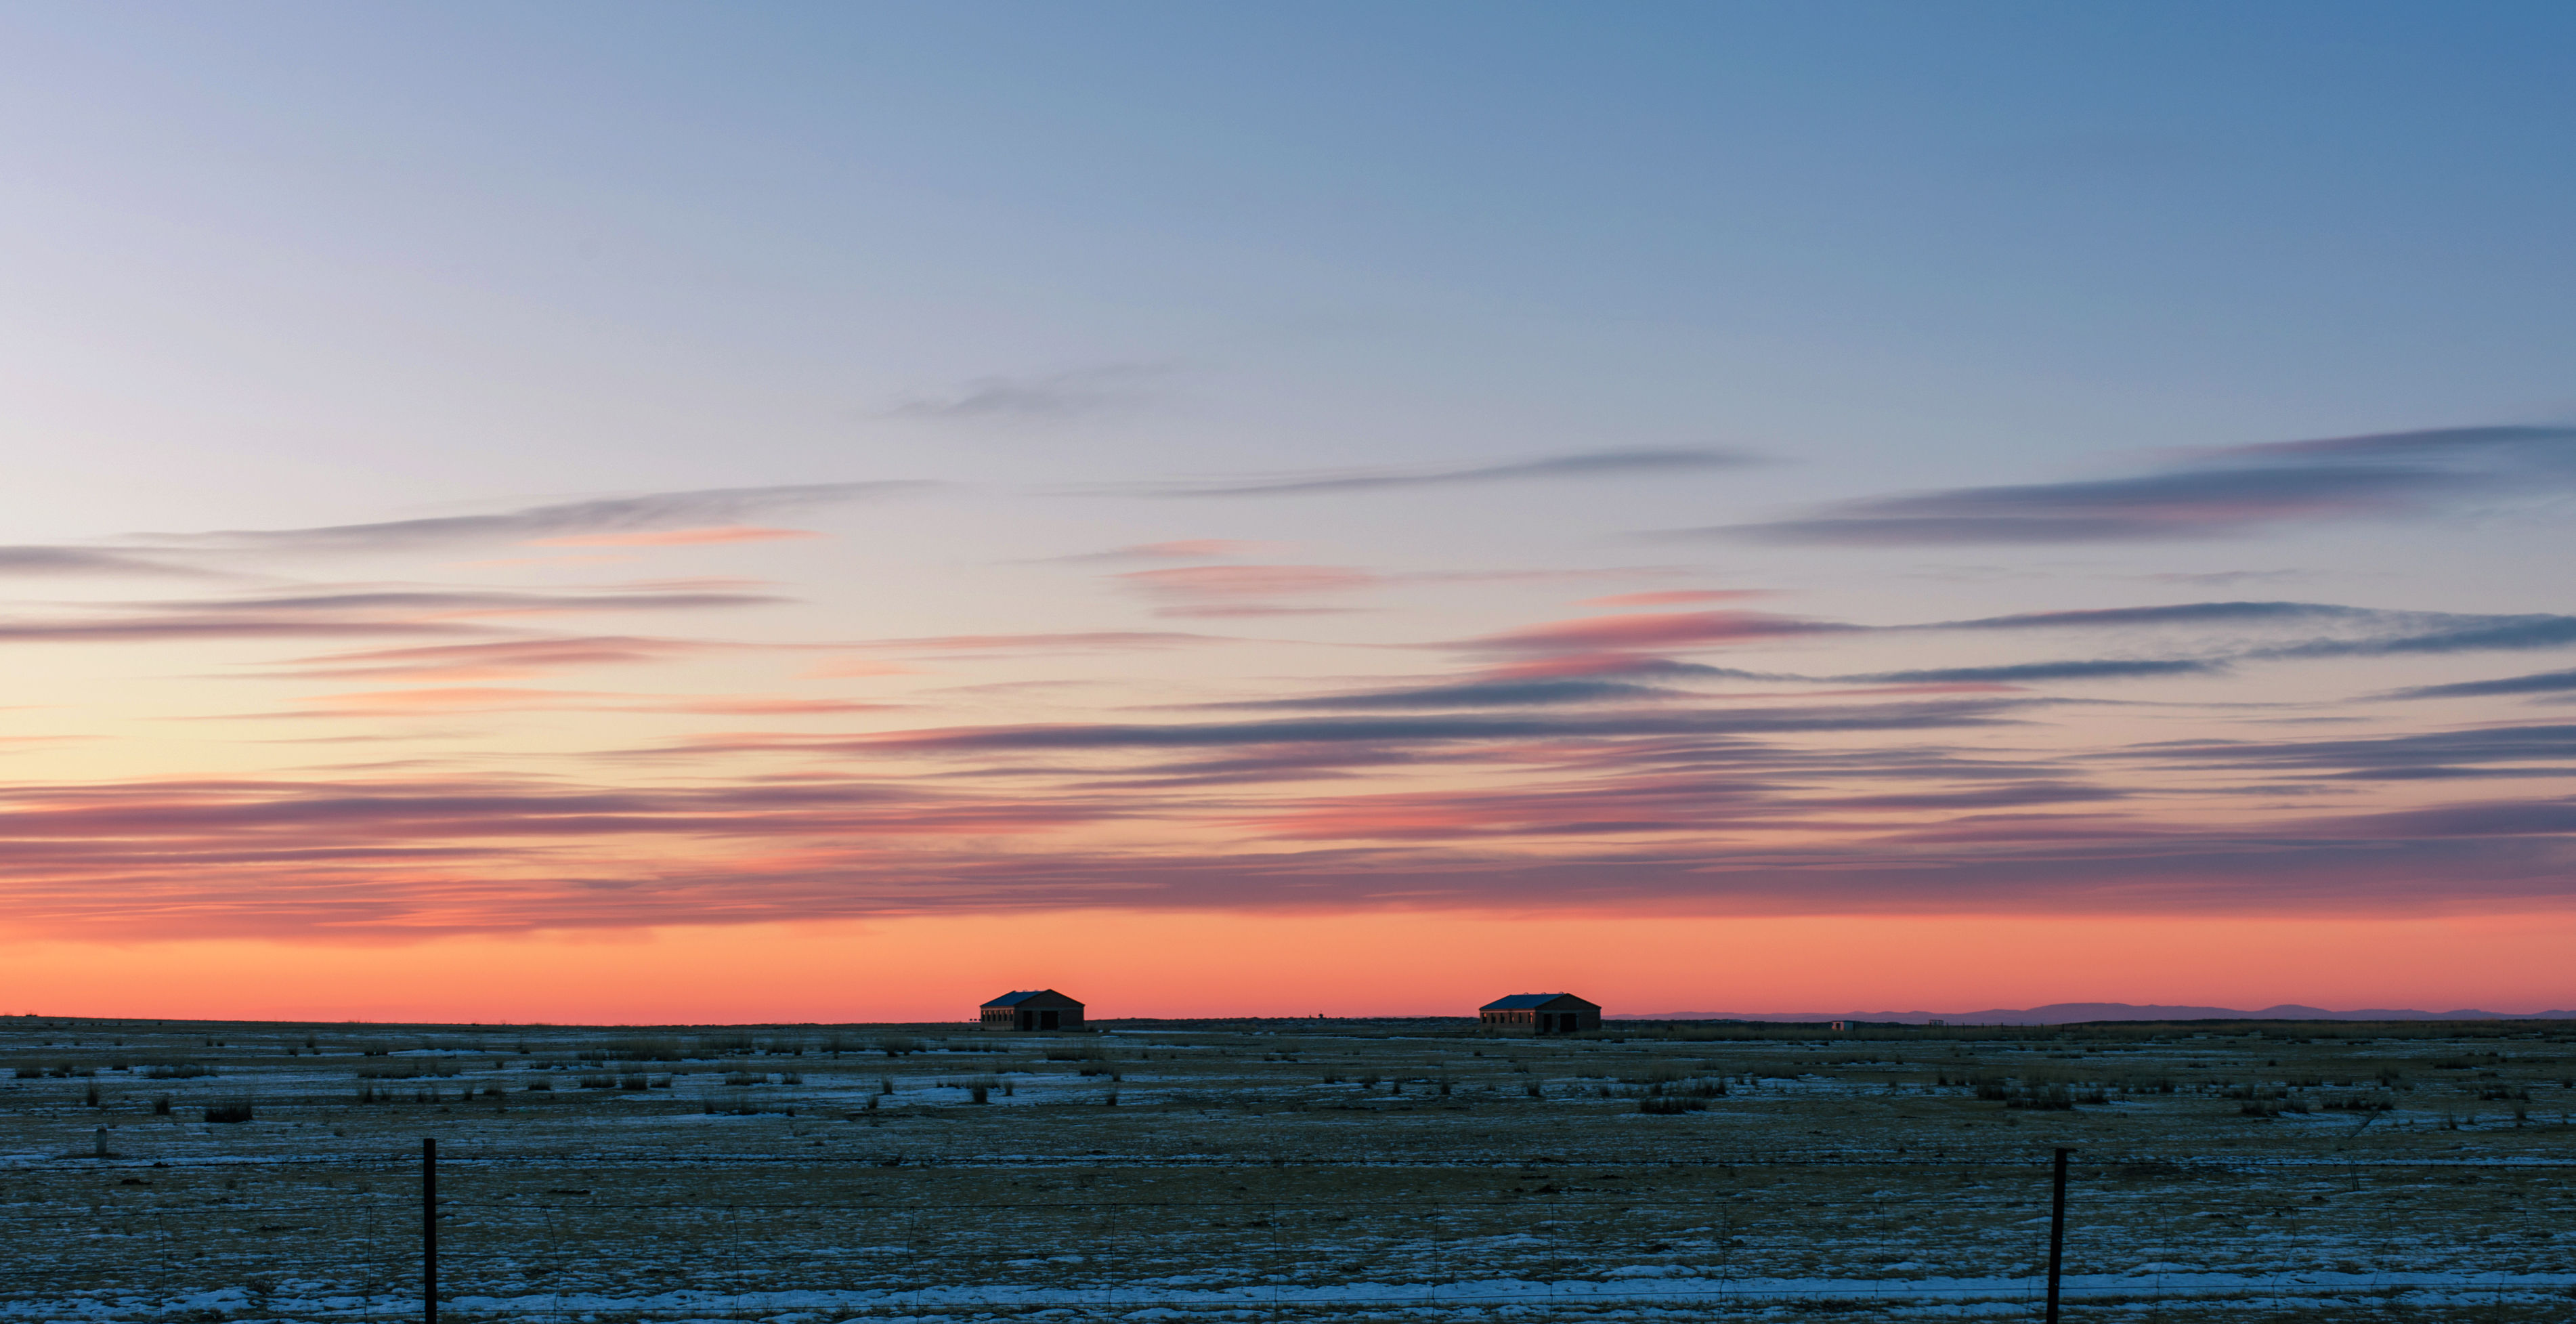
[[[371,714],[726,703],[513,688],[319,701]],[[15,780],[0,788],[0,904],[44,930],[407,938],[1084,904],[1350,909],[1394,894],[1414,907],[2020,914],[2576,899],[2576,801],[2563,796],[2259,817],[2231,796],[2223,814],[2156,811],[2210,773],[2354,791],[2566,775],[2568,726],[2038,752],[1968,744],[2048,714],[2017,701],[1574,706],[714,734],[675,744],[662,768],[703,778],[716,755],[739,755],[793,773],[755,762],[677,786],[399,770]],[[832,773],[886,755],[945,765]],[[1435,780],[1406,783],[1414,770]],[[1066,835],[1084,824],[1151,842]],[[992,845],[1030,835],[1056,837]]]

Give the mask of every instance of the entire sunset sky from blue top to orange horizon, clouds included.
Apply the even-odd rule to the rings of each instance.
[[[2576,1007],[2571,64],[0,5],[0,1010]]]

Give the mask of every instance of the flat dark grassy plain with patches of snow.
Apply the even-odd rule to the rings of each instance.
[[[0,1319],[2576,1319],[2576,1025],[0,1020]],[[237,1121],[227,1121],[237,1118]]]

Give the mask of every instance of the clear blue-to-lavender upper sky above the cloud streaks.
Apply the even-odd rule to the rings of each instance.
[[[1937,484],[2576,404],[2566,5],[0,23],[15,394],[137,518],[139,456],[245,479],[175,417],[317,466],[245,497],[299,518],[603,451],[662,487],[1718,443]],[[994,376],[1164,407],[963,453],[881,417]]]

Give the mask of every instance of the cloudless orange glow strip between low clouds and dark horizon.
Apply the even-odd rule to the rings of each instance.
[[[1973,1012],[2048,1002],[2537,1012],[2576,1005],[2576,914],[1515,917],[1023,912],[438,938],[0,943],[0,1012],[443,1023],[963,1020],[1059,987],[1095,1017]],[[255,971],[255,974],[250,974]]]

